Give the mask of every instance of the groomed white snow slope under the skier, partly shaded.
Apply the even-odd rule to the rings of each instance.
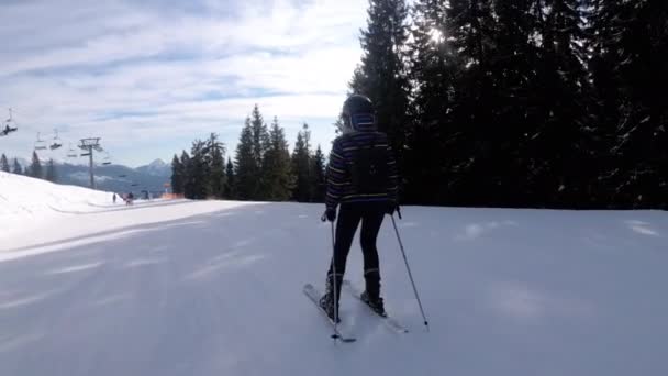
[[[404,208],[379,236],[396,334],[344,295],[337,344],[302,295],[320,204],[111,203],[0,175],[0,375],[668,375],[668,217]],[[347,278],[361,284],[357,243]]]

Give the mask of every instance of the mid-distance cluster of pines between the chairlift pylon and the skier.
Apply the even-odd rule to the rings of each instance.
[[[190,199],[321,202],[324,200],[325,157],[313,150],[307,124],[290,154],[285,130],[274,118],[268,126],[255,106],[246,118],[234,158],[212,133],[196,140],[171,162],[174,193]]]

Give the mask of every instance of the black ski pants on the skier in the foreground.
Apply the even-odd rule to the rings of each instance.
[[[380,269],[378,263],[378,248],[376,240],[378,231],[386,214],[387,202],[349,202],[342,203],[338,210],[338,221],[336,222],[336,239],[334,241],[334,257],[327,272],[329,291],[331,287],[336,287],[336,296],[339,297],[341,284],[346,272],[346,259],[353,245],[355,232],[361,222],[359,243],[364,256],[364,277],[366,290],[371,298],[380,296]],[[334,265],[333,265],[334,264]],[[333,266],[336,266],[336,284],[332,284],[334,274]]]

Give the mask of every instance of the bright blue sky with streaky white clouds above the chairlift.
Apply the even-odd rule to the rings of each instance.
[[[27,158],[40,133],[64,147],[101,137],[111,162],[169,162],[220,134],[233,156],[258,104],[292,145],[305,122],[330,150],[361,57],[367,0],[2,0],[0,153]],[[68,162],[84,162],[71,158]]]

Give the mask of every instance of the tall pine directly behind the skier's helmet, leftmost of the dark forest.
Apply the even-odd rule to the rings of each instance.
[[[401,159],[407,137],[409,80],[404,44],[408,38],[408,7],[404,0],[370,0],[368,25],[361,32],[364,56],[350,89],[361,93],[376,108],[376,121],[388,133]]]

